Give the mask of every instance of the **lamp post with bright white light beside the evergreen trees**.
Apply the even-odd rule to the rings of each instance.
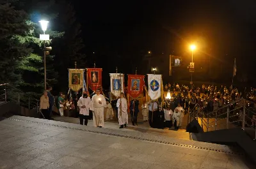
[[[49,21],[46,20],[40,20],[39,21],[42,27],[42,31],[44,31],[44,34],[40,34],[40,40],[44,40],[44,89],[46,90],[46,51],[45,51],[45,40],[49,40],[49,34],[45,34],[45,31],[47,30],[47,25]]]

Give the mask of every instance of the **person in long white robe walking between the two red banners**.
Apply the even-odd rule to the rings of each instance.
[[[118,122],[120,128],[125,128],[128,124],[127,101],[124,98],[124,93],[121,92],[120,98],[117,100],[116,107],[118,108]]]

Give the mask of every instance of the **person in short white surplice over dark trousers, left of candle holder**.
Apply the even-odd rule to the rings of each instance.
[[[92,107],[91,98],[87,96],[86,91],[83,92],[83,96],[77,101],[77,107],[79,107],[80,124],[87,126],[89,109]]]

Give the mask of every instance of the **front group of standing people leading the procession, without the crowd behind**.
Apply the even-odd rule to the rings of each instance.
[[[51,119],[52,108],[54,106],[54,96],[52,96],[51,90],[52,87],[48,87],[40,98],[40,110],[42,110],[42,115],[44,115],[45,119]],[[60,93],[60,96],[56,99],[56,101],[56,107],[58,108],[60,115],[63,116],[63,110],[65,109],[65,107],[69,107],[71,105],[71,101],[65,101],[65,95],[62,93]],[[106,98],[102,94],[100,94],[100,89],[97,89],[95,91],[95,95],[92,96],[92,99],[88,96],[87,92],[84,91],[83,95],[77,101],[77,107],[79,108],[79,119],[80,124],[82,125],[88,124],[88,119],[90,119],[90,111],[92,111],[93,114],[93,126],[99,128],[104,127],[104,108],[107,108],[106,119],[111,119],[113,115],[111,104],[109,103],[109,101],[106,101]],[[132,125],[138,126],[138,99],[132,98],[128,105],[124,93],[121,92],[120,97],[118,97],[116,100],[116,108],[118,124],[120,125],[120,128],[127,127],[128,108],[131,114]],[[172,109],[170,108],[164,108],[162,110],[161,107],[159,107],[157,101],[143,101],[143,104],[141,105],[141,110],[143,114],[143,121],[148,121],[150,127],[152,128],[163,128],[163,122],[161,122],[161,120],[159,119],[163,119],[164,121],[166,121],[166,124],[164,124],[164,126],[170,126],[168,125],[170,124],[170,121],[173,121],[173,124],[174,122],[178,122],[177,124],[175,123],[175,126],[177,128],[179,128],[181,124],[181,114],[173,114]]]

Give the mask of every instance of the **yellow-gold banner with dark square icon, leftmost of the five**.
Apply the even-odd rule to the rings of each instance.
[[[68,87],[77,92],[83,88],[84,69],[68,69]]]

